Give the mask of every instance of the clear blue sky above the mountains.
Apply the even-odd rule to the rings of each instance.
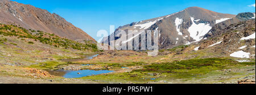
[[[208,10],[238,14],[255,12],[255,0],[12,0],[59,14],[81,28],[96,41],[97,31],[109,31],[135,21],[156,18],[197,6]],[[254,6],[249,6],[253,5]]]

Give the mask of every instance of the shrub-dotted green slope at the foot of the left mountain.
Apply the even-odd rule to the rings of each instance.
[[[56,36],[55,34],[35,31],[31,29],[27,30],[16,25],[6,25],[0,23],[0,36],[14,37],[16,38],[16,40],[25,41],[28,44],[40,42],[42,44],[47,44],[54,47],[61,47],[65,49],[97,51],[96,44],[93,44],[93,42],[91,41],[85,41],[84,43],[80,43],[77,41],[69,40],[67,38]],[[5,43],[6,41],[7,40],[0,39],[0,44]]]

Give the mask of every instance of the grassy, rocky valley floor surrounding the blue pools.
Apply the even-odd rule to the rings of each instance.
[[[195,62],[217,62],[216,66],[207,64],[183,64],[189,59],[176,62],[172,54],[148,57],[145,53],[135,51],[104,51],[98,57],[51,66],[38,65],[15,66],[10,64],[0,65],[0,83],[3,84],[238,84],[238,81],[255,83],[255,62],[234,62],[229,58],[195,59]],[[113,58],[112,58],[113,57]],[[9,58],[10,61],[12,61]],[[48,59],[51,61],[51,59]],[[189,61],[190,63],[194,60]],[[61,61],[59,62],[61,63]],[[62,67],[76,69],[78,64],[93,64],[79,69],[82,70],[112,70],[109,74],[86,76],[67,79],[61,76],[50,75],[47,71]],[[179,66],[183,64],[183,66]],[[48,64],[44,64],[48,65]],[[162,65],[164,65],[162,67]],[[156,67],[154,67],[156,66]],[[175,67],[173,67],[175,66]],[[125,68],[124,68],[125,67]],[[166,69],[167,67],[167,69]],[[178,67],[178,68],[176,68]],[[37,68],[37,69],[36,69]],[[159,69],[158,69],[159,68]],[[155,69],[155,70],[154,70]],[[171,71],[168,71],[171,70]],[[250,81],[250,82],[249,82]]]

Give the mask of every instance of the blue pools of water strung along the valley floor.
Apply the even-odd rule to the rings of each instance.
[[[61,61],[64,62],[75,62],[75,61],[87,61],[89,59],[93,59],[94,57],[97,57],[98,54],[94,55],[85,55],[84,58],[80,59],[62,59]],[[81,66],[90,66],[92,64],[81,64]],[[70,70],[54,70],[54,71],[48,71],[49,74],[55,75],[55,76],[61,76],[65,78],[80,78],[84,76],[91,76],[91,75],[99,75],[99,74],[105,74],[113,71],[109,70],[79,70],[79,71],[70,71]]]

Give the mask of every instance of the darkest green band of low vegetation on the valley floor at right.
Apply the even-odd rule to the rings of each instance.
[[[251,62],[247,63],[250,64]],[[161,64],[151,64],[141,70],[148,72],[175,72],[175,70],[193,70],[200,68],[222,69],[234,64],[244,64],[233,61],[232,59],[206,58],[206,59],[189,59],[184,61],[174,61]],[[255,64],[255,63],[254,63]]]

